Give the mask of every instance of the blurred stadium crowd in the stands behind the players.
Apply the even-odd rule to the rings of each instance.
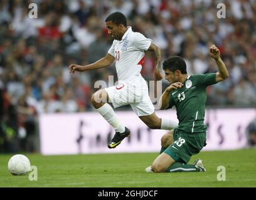
[[[29,17],[32,2],[38,8],[36,19]],[[123,12],[134,31],[161,47],[162,59],[186,59],[189,74],[216,71],[208,55],[210,44],[216,44],[230,79],[210,87],[207,104],[255,108],[256,0],[221,2],[226,17],[219,19],[219,1],[214,0],[1,0],[0,150],[17,133],[21,138],[33,135],[40,113],[92,110],[94,83],[107,82],[109,75],[116,80],[114,64],[75,74],[68,66],[105,56],[112,44],[105,17],[114,11]],[[146,53],[142,76],[148,81],[153,68]]]

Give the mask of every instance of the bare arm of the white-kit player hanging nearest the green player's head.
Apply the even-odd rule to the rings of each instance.
[[[153,51],[154,55],[156,56],[156,68],[154,69],[154,79],[156,81],[160,81],[163,79],[163,75],[161,74],[161,49],[151,42],[149,49],[147,51]]]

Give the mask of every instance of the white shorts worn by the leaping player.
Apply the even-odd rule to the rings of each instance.
[[[147,116],[154,113],[147,83],[142,77],[132,81],[119,81],[118,86],[105,88],[105,91],[107,91],[114,108],[131,105],[137,116]]]

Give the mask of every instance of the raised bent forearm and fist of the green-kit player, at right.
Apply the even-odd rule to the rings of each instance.
[[[223,63],[222,59],[220,58],[220,50],[214,44],[210,46],[210,56],[211,58],[215,59],[215,62],[218,66],[218,72],[216,73],[216,82],[227,79],[229,76],[228,69],[226,68],[225,63]]]

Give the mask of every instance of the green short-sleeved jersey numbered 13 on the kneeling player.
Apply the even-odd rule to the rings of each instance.
[[[188,76],[182,88],[171,92],[169,107],[176,107],[179,126],[186,134],[206,132],[206,86],[216,83],[216,73]]]

